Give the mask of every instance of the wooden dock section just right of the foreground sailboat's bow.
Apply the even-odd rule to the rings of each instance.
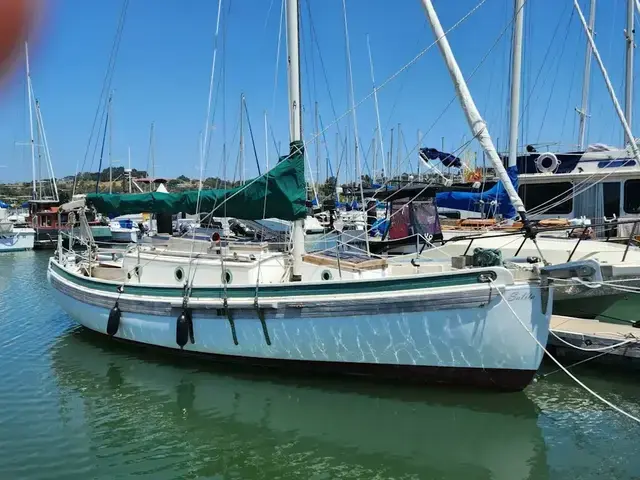
[[[577,348],[574,348],[577,347]],[[557,357],[640,367],[640,328],[553,315],[548,348]]]

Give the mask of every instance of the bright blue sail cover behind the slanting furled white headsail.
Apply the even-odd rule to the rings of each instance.
[[[507,173],[513,187],[518,190],[518,167],[508,167]],[[496,202],[494,207],[491,202]],[[484,203],[480,203],[484,202]],[[454,208],[468,212],[488,212],[491,210],[501,214],[504,218],[514,218],[516,209],[513,208],[507,191],[502,182],[496,183],[484,192],[440,192],[436,194],[436,205],[443,208]]]

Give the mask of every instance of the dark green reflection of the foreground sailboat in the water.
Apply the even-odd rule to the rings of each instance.
[[[138,352],[86,330],[52,350],[65,409],[84,417],[103,473],[547,478],[537,410],[523,393],[221,374]]]

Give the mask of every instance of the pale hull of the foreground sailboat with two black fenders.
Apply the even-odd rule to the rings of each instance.
[[[180,350],[176,324],[182,298],[127,293],[135,287],[125,287],[120,296],[97,292],[87,286],[92,280],[74,279],[54,263],[49,280],[62,308],[78,323],[106,334],[118,299],[122,316],[116,338]],[[485,283],[462,290],[363,293],[355,300],[352,295],[271,297],[257,306],[254,299],[230,298],[228,311],[222,298],[204,300],[194,293],[189,303],[194,343],[184,351],[304,371],[520,390],[542,360],[537,342],[547,341],[552,293],[543,295],[539,285],[528,283],[500,287],[523,326],[496,288]]]

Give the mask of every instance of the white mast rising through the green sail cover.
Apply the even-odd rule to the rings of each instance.
[[[302,140],[302,104],[300,95],[300,41],[298,38],[298,0],[287,0],[287,53],[289,84],[289,141],[299,148]],[[293,148],[291,148],[291,153]],[[304,220],[293,222],[293,280],[302,280]]]

